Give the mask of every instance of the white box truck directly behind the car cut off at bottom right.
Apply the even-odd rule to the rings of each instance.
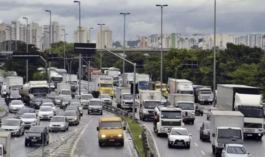
[[[216,156],[226,144],[243,144],[244,115],[238,111],[211,111],[210,141]]]

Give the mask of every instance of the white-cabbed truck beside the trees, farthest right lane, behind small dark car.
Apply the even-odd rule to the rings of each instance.
[[[213,92],[211,86],[193,85],[195,102],[213,104]]]

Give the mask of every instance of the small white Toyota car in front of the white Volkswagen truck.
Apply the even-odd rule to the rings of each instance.
[[[168,135],[168,148],[173,146],[183,146],[190,148],[192,134],[189,134],[186,128],[172,128]]]

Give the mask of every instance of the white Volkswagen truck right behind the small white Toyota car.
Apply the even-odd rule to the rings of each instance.
[[[157,136],[167,134],[172,127],[184,127],[181,109],[175,106],[157,106],[154,109],[154,132]]]

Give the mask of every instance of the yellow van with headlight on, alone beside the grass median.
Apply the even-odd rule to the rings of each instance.
[[[98,144],[121,144],[124,145],[122,120],[120,117],[100,117],[98,121]]]

